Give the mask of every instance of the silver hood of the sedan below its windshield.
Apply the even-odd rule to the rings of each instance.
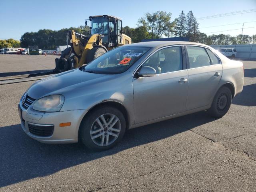
[[[75,69],[42,79],[34,83],[27,93],[36,100],[51,94],[64,94],[65,96],[66,92],[70,93],[88,84],[105,82],[108,78],[113,78],[113,75],[94,74]]]

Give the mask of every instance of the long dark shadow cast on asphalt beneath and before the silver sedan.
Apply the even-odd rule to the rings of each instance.
[[[205,111],[128,130],[123,140],[104,152],[90,152],[79,144],[42,144],[28,137],[20,124],[0,128],[0,187],[116,154],[212,122]]]

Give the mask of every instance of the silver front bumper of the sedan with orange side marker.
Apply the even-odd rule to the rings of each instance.
[[[21,102],[18,105],[21,127],[31,138],[42,143],[64,144],[78,142],[78,130],[86,110],[70,110],[61,112],[39,112],[30,106],[27,110],[22,107]],[[70,126],[60,127],[60,123],[71,122]],[[30,128],[29,128],[30,125]],[[54,126],[50,136],[35,135],[32,126],[44,127]]]

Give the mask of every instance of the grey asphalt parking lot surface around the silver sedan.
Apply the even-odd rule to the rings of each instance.
[[[53,69],[56,57],[0,55],[0,77]],[[223,118],[135,128],[104,152],[29,138],[18,102],[35,81],[0,85],[0,191],[256,191],[256,61],[243,63],[243,91]]]

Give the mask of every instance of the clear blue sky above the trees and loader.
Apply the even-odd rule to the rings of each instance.
[[[126,3],[122,4],[122,2]],[[136,27],[138,19],[146,12],[158,10],[171,12],[173,20],[182,10],[185,13],[192,10],[194,16],[200,18],[254,8],[256,8],[256,0],[4,0],[0,1],[0,39],[19,40],[25,32],[36,32],[44,28],[59,30],[71,26],[77,27],[84,25],[84,19],[88,16],[99,14],[118,16],[123,19],[123,26]],[[211,35],[210,32],[238,35],[242,30],[218,31],[239,29],[242,28],[242,24],[204,27],[241,22],[250,22],[245,23],[244,28],[256,27],[256,12],[198,20],[198,22],[200,31],[207,35]],[[243,34],[256,34],[256,28],[244,29]]]

